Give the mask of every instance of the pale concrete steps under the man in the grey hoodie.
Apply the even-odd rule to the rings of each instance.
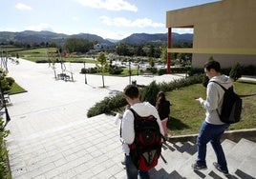
[[[252,179],[256,178],[256,143],[241,139],[238,143],[225,139],[222,143],[230,175],[227,178]],[[197,146],[191,142],[166,142],[162,149],[162,155],[168,162],[160,159],[159,165],[150,171],[152,178],[172,179],[198,179],[198,178],[226,178],[223,173],[212,165],[216,162],[216,156],[211,145],[207,145],[206,162],[208,169],[194,171],[191,164],[197,158]]]

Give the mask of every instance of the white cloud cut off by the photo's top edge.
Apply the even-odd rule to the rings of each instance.
[[[125,0],[76,0],[85,7],[105,10],[138,11],[138,8]]]

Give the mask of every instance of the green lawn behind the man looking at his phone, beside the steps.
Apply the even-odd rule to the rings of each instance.
[[[238,94],[243,97],[242,120],[229,129],[256,128],[256,82],[238,81],[234,83]],[[205,117],[205,110],[194,100],[195,97],[205,99],[205,88],[196,84],[187,88],[166,92],[170,100],[171,120],[168,121],[168,132],[171,135],[197,134]]]

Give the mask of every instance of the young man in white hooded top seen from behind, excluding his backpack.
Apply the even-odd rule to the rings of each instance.
[[[139,116],[153,115],[157,118],[160,126],[160,133],[163,135],[158,110],[148,102],[140,102],[138,87],[135,85],[128,85],[124,89],[124,95],[130,108],[134,109]],[[126,167],[126,174],[128,179],[137,179],[138,175],[140,179],[148,179],[148,171],[141,171],[137,169],[130,157],[129,145],[131,145],[135,140],[134,120],[133,112],[130,109],[126,109],[124,111],[121,124],[121,137],[124,141],[122,149],[125,152],[124,163]]]

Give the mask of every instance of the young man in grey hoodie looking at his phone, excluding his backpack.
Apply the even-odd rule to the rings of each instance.
[[[202,107],[206,110],[205,120],[203,121],[200,129],[197,146],[198,146],[198,157],[195,164],[192,164],[194,170],[207,169],[206,166],[206,145],[208,142],[211,143],[212,148],[215,151],[217,162],[213,165],[216,169],[228,175],[227,164],[224,156],[224,149],[220,142],[220,139],[224,133],[224,130],[229,127],[228,124],[223,123],[220,120],[219,114],[223,106],[224,89],[218,84],[211,82],[216,81],[220,83],[224,88],[228,89],[232,86],[232,82],[228,76],[221,74],[221,66],[217,61],[209,61],[204,65],[204,72],[209,78],[209,82],[206,89],[206,99],[202,97],[196,100],[200,102]]]

